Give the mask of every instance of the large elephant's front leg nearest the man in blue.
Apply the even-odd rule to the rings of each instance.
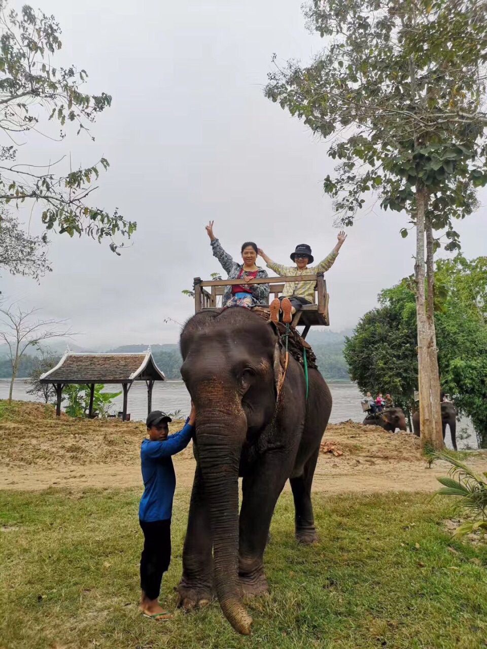
[[[194,475],[188,529],[182,549],[182,576],[177,593],[177,604],[185,609],[205,606],[213,598],[210,513],[198,467]]]

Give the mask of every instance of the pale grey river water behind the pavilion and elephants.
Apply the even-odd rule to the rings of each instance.
[[[10,386],[10,379],[0,379],[0,398],[5,399],[8,397],[8,388]],[[333,407],[331,411],[330,422],[338,424],[341,421],[351,419],[352,421],[362,421],[364,413],[360,406],[362,395],[358,391],[355,383],[332,383],[328,384],[332,398]],[[29,384],[24,379],[17,379],[14,384],[14,399],[21,401],[37,401],[38,399],[27,394]],[[118,392],[121,390],[119,385],[105,386],[105,391]],[[190,397],[188,391],[182,381],[158,381],[154,384],[152,393],[152,407],[153,410],[163,410],[167,413],[177,413],[181,410],[181,417],[187,415],[190,411]],[[122,397],[114,398],[112,411],[116,413],[122,409]],[[131,413],[131,419],[144,420],[147,417],[147,387],[145,382],[134,382],[129,391],[129,402],[127,412]],[[468,443],[471,447],[477,447],[477,438],[473,432],[473,428],[468,420],[462,419],[456,428],[456,435],[458,440],[458,448],[463,448],[466,445],[465,441],[459,439],[461,428],[466,428],[470,433]],[[447,431],[447,445],[449,443],[449,432]]]

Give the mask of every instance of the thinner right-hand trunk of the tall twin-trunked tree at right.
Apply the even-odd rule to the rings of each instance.
[[[427,278],[427,313],[428,358],[431,389],[431,410],[433,417],[435,448],[443,448],[442,408],[440,405],[440,371],[438,370],[438,348],[436,347],[436,329],[434,326],[434,239],[433,228],[428,217],[426,228],[426,278]]]

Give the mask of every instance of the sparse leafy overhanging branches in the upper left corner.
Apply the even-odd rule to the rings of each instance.
[[[71,237],[84,232],[98,241],[116,234],[130,238],[136,223],[126,221],[118,210],[110,215],[87,202],[96,189],[93,181],[99,177],[99,167],[106,170],[109,166],[106,158],[84,169],[69,165],[59,175],[54,169],[64,156],[45,165],[17,161],[16,143],[31,130],[50,140],[62,140],[63,128],[71,122],[78,134],[94,140],[88,124],[112,103],[105,92],[89,95],[81,91],[88,77],[83,69],[53,65],[62,47],[60,34],[54,16],[35,12],[29,5],[18,14],[8,10],[7,0],[0,0],[0,130],[6,141],[0,146],[0,200],[41,204],[47,230],[57,228]],[[45,130],[48,121],[59,123],[57,138]],[[110,248],[116,252],[113,239]]]

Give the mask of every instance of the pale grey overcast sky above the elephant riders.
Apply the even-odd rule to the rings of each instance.
[[[326,145],[263,94],[273,53],[306,62],[319,52],[301,0],[38,5],[62,27],[53,63],[86,69],[85,92],[109,93],[113,103],[92,127],[95,141],[31,134],[21,156],[42,164],[65,155],[73,167],[105,156],[110,169],[94,202],[118,207],[137,230],[119,257],[108,242],[53,234],[53,273],[40,285],[4,273],[3,297],[69,319],[82,347],[173,343],[194,309],[182,289],[221,270],[205,232],[210,219],[235,259],[249,239],[281,263],[297,243],[310,244],[316,260],[331,251],[338,230],[323,195],[333,171]],[[479,213],[457,228],[468,258],[485,254],[480,198]],[[42,231],[39,213],[21,215],[34,233]],[[325,275],[332,330],[353,328],[382,288],[412,273],[414,233],[399,234],[406,220],[370,204],[348,228]]]

